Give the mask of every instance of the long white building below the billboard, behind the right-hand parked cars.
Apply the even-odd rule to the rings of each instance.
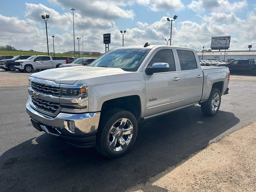
[[[197,52],[199,60],[224,60],[225,51],[204,51]],[[234,59],[256,59],[256,51],[226,51],[225,60],[232,61]]]

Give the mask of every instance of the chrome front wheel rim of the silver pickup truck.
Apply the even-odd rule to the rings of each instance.
[[[130,143],[133,134],[132,122],[126,118],[117,120],[108,132],[110,150],[124,150]]]

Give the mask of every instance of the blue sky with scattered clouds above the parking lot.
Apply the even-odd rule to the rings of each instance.
[[[202,50],[210,48],[211,36],[230,35],[230,50],[256,50],[255,0],[10,0],[2,1],[0,45],[46,51],[46,33],[41,14],[50,14],[49,41],[55,50],[73,50],[72,12],[75,36],[84,35],[86,51],[104,52],[102,34],[110,32],[110,48],[122,46],[119,30],[127,30],[125,46],[166,44],[170,37],[167,17],[173,23],[172,44]],[[76,42],[77,44],[77,42]],[[77,46],[77,45],[76,45]],[[77,48],[78,49],[78,48]]]

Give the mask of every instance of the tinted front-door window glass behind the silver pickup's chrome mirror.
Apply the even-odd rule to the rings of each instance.
[[[154,63],[168,63],[169,71],[176,71],[174,56],[171,49],[162,49],[156,52],[148,66]]]

